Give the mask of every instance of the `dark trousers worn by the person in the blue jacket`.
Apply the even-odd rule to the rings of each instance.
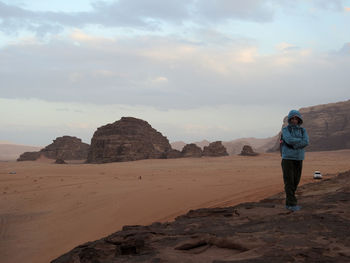
[[[282,171],[284,181],[284,191],[286,192],[286,205],[297,205],[295,191],[300,182],[303,161],[282,159]]]

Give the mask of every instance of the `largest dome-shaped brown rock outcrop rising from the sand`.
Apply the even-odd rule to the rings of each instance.
[[[89,163],[136,161],[166,158],[168,139],[146,121],[123,117],[98,128],[89,150]]]

